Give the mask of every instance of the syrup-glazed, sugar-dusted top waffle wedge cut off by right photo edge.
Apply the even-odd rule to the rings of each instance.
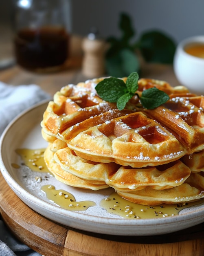
[[[175,97],[153,110],[143,110],[156,119],[186,148],[186,154],[204,149],[203,96]],[[202,107],[201,107],[202,106]]]

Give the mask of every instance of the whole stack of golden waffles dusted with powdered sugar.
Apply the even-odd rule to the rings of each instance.
[[[204,198],[204,97],[140,79],[138,95],[156,87],[169,101],[148,110],[135,96],[120,111],[97,95],[101,80],[67,85],[48,103],[41,126],[49,171],[70,186],[112,187],[138,204]]]

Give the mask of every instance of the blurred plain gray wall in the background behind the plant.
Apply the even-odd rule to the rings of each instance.
[[[52,1],[52,0],[50,0]],[[204,34],[204,0],[68,0],[71,4],[72,33],[85,36],[97,27],[104,38],[119,36],[119,14],[127,13],[137,38],[141,32],[160,29],[176,43]],[[12,17],[15,0],[0,0],[0,24]],[[1,32],[1,31],[0,31]],[[2,36],[2,34],[0,34]]]

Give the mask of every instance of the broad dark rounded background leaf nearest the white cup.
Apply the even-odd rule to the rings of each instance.
[[[143,33],[137,46],[147,62],[173,63],[176,45],[164,32],[155,30]]]

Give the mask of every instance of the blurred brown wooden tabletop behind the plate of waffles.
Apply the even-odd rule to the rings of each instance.
[[[91,79],[81,73],[81,56],[72,58],[63,71],[57,73],[33,73],[14,65],[6,70],[0,70],[0,81],[12,85],[37,84],[43,90],[53,95],[68,83],[79,83]],[[172,86],[179,85],[171,65],[148,64],[143,67],[141,76],[168,81]]]

